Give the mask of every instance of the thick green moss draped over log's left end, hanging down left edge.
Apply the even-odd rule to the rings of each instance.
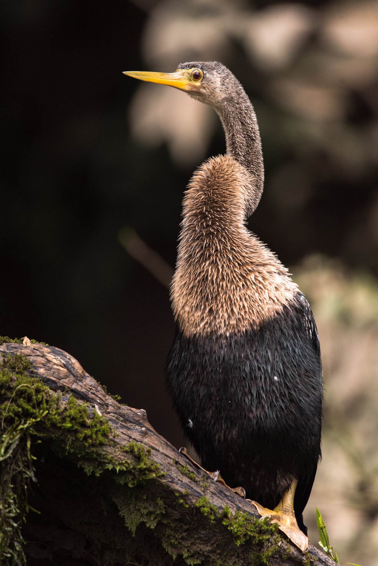
[[[72,434],[57,444],[69,452],[75,443],[105,444],[111,427],[97,413],[89,419],[87,406],[72,396],[62,406],[61,396],[33,376],[31,363],[20,354],[1,356],[0,398],[0,563],[24,564],[20,529],[29,508],[28,486],[35,481],[32,438],[68,429]]]

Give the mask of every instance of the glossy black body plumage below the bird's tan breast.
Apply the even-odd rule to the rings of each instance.
[[[259,329],[185,337],[167,362],[167,389],[184,434],[209,471],[273,509],[293,476],[294,511],[310,496],[320,458],[323,396],[319,338],[306,298]]]

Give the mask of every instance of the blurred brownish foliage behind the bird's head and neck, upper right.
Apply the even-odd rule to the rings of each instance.
[[[142,38],[144,67],[218,59],[246,88],[266,169],[250,226],[283,261],[321,251],[378,273],[378,2],[161,0]],[[175,89],[135,89],[140,143],[166,144],[187,169],[224,152],[211,108]]]

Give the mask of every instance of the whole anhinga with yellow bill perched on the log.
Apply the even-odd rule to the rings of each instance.
[[[227,155],[195,171],[183,201],[166,383],[184,434],[204,468],[243,486],[307,552],[302,512],[321,455],[319,337],[307,299],[245,225],[264,181],[254,108],[221,63],[126,74],[212,106],[226,135]]]

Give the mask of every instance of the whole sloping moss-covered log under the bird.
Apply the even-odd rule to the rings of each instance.
[[[332,565],[295,548],[65,351],[0,341],[0,563]]]

